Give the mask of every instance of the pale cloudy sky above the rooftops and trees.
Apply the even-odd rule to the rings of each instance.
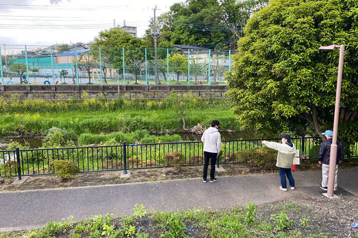
[[[0,0],[0,44],[50,45],[88,42],[102,29],[148,28],[153,8],[158,16],[182,0]],[[31,47],[31,46],[29,46]],[[9,45],[8,48],[11,48]]]

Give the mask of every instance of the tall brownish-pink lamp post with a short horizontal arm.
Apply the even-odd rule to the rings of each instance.
[[[343,74],[343,61],[344,61],[344,44],[331,44],[329,46],[320,46],[319,49],[334,50],[339,48],[339,62],[338,62],[338,76],[337,76],[337,89],[335,94],[335,108],[334,108],[334,122],[333,122],[333,138],[330,145],[329,156],[329,172],[328,172],[328,189],[327,196],[333,196],[335,165],[337,161],[337,132],[338,132],[338,119],[339,119],[339,103],[340,103],[340,89],[342,85]]]

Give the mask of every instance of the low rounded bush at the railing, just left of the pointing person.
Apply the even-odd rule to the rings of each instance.
[[[251,168],[273,168],[276,154],[276,150],[267,147],[251,148],[239,150],[237,158],[239,162],[244,162]]]

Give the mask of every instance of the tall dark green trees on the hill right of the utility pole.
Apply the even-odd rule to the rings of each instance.
[[[158,16],[156,27],[162,40],[174,44],[235,48],[249,16],[268,0],[186,0],[174,3]],[[151,19],[149,27],[153,27]],[[150,29],[145,38],[153,45]]]

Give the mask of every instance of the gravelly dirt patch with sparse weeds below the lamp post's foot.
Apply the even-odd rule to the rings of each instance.
[[[271,214],[285,210],[293,220],[290,230],[299,230],[302,237],[320,234],[318,237],[357,237],[358,230],[350,224],[358,219],[358,198],[340,196],[338,199],[294,197],[277,204],[263,204],[257,207],[260,220],[273,222]]]

